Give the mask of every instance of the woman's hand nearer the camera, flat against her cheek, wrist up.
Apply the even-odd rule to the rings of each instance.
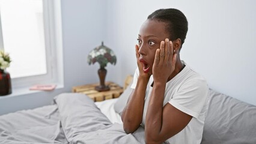
[[[154,82],[167,82],[168,77],[175,70],[177,53],[173,53],[172,41],[168,38],[161,41],[160,49],[156,50],[153,64]]]

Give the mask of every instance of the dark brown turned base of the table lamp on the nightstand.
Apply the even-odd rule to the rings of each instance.
[[[99,74],[99,78],[100,78],[100,85],[96,86],[95,89],[97,91],[109,91],[109,86],[105,85],[105,77],[106,77],[106,73],[107,70],[105,69],[105,67],[100,67],[100,69],[98,70],[98,74]]]

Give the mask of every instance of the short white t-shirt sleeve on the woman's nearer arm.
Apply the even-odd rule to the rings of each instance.
[[[194,79],[180,86],[177,93],[169,100],[169,104],[181,112],[198,118],[205,103],[207,103],[209,88],[206,80]]]

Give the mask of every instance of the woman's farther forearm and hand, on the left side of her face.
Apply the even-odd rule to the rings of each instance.
[[[126,107],[124,107],[121,119],[123,121],[124,131],[133,133],[142,122],[145,91],[150,78],[148,74],[143,73],[142,64],[139,62],[139,47],[136,45],[136,58],[139,68],[139,76],[135,90],[130,94]]]

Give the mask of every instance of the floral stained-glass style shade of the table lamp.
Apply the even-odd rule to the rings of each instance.
[[[104,46],[102,42],[102,46],[91,50],[88,55],[87,62],[89,65],[99,62],[100,67],[103,68],[106,67],[108,62],[115,65],[117,62],[117,57],[115,56],[114,52],[108,47]]]

